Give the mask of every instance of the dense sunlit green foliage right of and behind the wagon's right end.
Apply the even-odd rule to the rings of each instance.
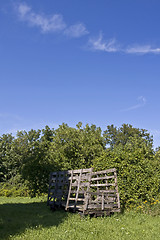
[[[108,129],[110,135],[110,128]],[[141,133],[138,130],[138,134],[136,130],[133,134],[134,129],[131,126],[127,133],[126,125],[117,132],[118,135],[120,133],[120,140],[112,135],[111,147],[106,149],[102,156],[94,159],[93,167],[97,170],[113,167],[117,169],[122,207],[136,205],[145,200],[150,201],[152,197],[158,195],[160,186],[159,162],[154,156],[152,139],[148,134],[148,140],[144,137],[144,130]],[[125,141],[122,141],[122,133],[125,135]],[[107,131],[105,134],[108,136]]]

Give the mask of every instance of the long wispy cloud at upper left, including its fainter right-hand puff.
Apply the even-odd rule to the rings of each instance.
[[[61,32],[71,38],[79,38],[88,34],[83,23],[67,26],[61,14],[47,16],[35,13],[26,3],[20,3],[15,7],[19,19],[27,22],[32,27],[39,27],[42,33]]]

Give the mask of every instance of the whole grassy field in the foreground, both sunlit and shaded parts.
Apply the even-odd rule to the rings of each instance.
[[[44,198],[0,198],[0,239],[158,240],[160,216],[126,212],[105,218],[81,218],[51,212]]]

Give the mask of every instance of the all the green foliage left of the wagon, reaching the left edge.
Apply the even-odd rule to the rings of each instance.
[[[1,137],[1,182],[11,183],[10,187],[9,184],[5,186],[5,191],[13,191],[14,195],[15,185],[24,185],[26,182],[32,195],[47,192],[51,166],[45,156],[51,142],[51,134],[52,130],[46,126],[42,135],[41,130],[32,129],[29,132],[17,132],[16,138],[10,134]],[[18,180],[17,176],[20,176]]]

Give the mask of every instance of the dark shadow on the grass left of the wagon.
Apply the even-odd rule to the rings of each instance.
[[[63,210],[52,212],[46,202],[0,205],[0,239],[21,234],[26,228],[58,226],[67,218]]]

